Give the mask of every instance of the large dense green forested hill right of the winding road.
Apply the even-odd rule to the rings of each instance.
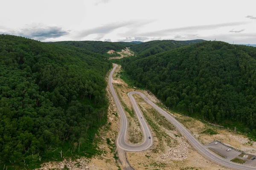
[[[167,107],[215,123],[242,122],[256,136],[256,48],[200,42],[124,58],[122,66]]]

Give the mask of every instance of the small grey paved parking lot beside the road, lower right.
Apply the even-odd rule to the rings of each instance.
[[[218,142],[217,144],[215,144],[216,142]],[[234,158],[239,158],[239,159],[243,159],[246,162],[244,164],[249,165],[249,166],[255,166],[256,167],[256,159],[251,160],[251,159],[247,159],[247,156],[252,157],[252,155],[247,155],[245,154],[244,157],[240,157],[239,155],[242,153],[238,150],[233,149],[232,147],[228,147],[225,144],[222,144],[219,141],[213,141],[210,142],[209,144],[205,145],[206,148],[212,148],[213,150],[215,150],[216,152],[220,153],[221,155],[225,156],[227,160],[231,160]],[[230,151],[227,151],[227,149],[231,149]]]

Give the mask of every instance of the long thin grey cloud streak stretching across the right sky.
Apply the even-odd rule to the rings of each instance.
[[[188,27],[180,27],[180,28],[170,28],[170,29],[164,29],[159,31],[152,31],[152,32],[146,32],[146,33],[136,33],[140,34],[140,36],[166,36],[173,34],[175,32],[180,31],[200,31],[200,30],[211,30],[221,27],[227,27],[227,26],[239,26],[247,24],[248,22],[234,22],[234,23],[221,23],[221,24],[211,24],[211,25],[201,25],[201,26],[188,26]]]

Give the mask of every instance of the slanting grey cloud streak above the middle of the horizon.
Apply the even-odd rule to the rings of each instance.
[[[97,34],[97,37],[95,38],[95,40],[100,40],[102,37],[105,36],[105,34],[108,34],[117,28],[122,28],[122,27],[136,28],[139,26],[146,25],[148,23],[152,23],[153,21],[154,20],[143,20],[143,21],[131,20],[131,21],[125,21],[125,22],[118,22],[118,23],[108,23],[103,26],[80,31],[79,34],[75,35],[75,38],[80,39],[81,37],[86,37],[90,34]]]

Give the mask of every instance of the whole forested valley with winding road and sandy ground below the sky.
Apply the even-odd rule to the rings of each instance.
[[[204,40],[0,40],[12,46],[0,46],[4,170],[256,168],[253,47]],[[24,82],[12,84],[18,79]],[[247,119],[239,124],[232,117],[231,126],[232,114]],[[9,125],[17,131],[6,131]],[[26,149],[14,157],[20,146]]]

